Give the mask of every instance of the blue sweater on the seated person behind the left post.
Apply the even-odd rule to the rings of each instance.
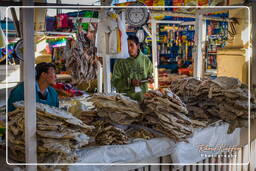
[[[48,87],[46,92],[46,98],[41,99],[38,94],[38,88],[37,88],[37,83],[36,83],[36,102],[38,103],[43,103],[43,104],[48,104],[50,106],[55,106],[59,107],[59,98],[58,94],[55,91],[54,88]],[[8,99],[8,111],[11,112],[15,109],[13,106],[14,102],[24,100],[24,83],[21,83],[17,85],[10,93],[9,99]]]

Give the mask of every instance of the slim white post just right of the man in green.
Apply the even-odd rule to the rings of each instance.
[[[151,20],[152,29],[152,63],[153,63],[153,73],[154,73],[154,89],[158,89],[158,69],[157,69],[157,42],[156,42],[156,20]]]

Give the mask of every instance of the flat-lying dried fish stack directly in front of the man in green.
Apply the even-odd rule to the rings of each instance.
[[[143,115],[137,101],[121,94],[95,94],[88,101],[93,102],[98,116],[117,124],[129,125]]]

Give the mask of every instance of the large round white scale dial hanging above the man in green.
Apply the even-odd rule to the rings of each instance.
[[[144,6],[143,3],[136,2],[131,6]],[[149,19],[149,11],[147,8],[127,8],[126,21],[134,27],[141,27],[147,23]]]

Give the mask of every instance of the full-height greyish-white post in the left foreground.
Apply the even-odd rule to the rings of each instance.
[[[33,5],[32,0],[23,4]],[[34,52],[34,9],[23,9],[24,43],[24,103],[25,103],[25,155],[26,163],[37,163],[36,143],[36,94],[35,94],[35,52]],[[36,170],[36,165],[28,165],[28,171]]]

